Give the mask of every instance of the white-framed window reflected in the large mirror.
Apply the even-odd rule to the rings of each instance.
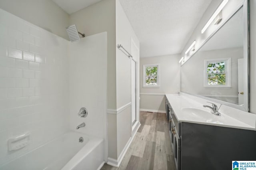
[[[204,87],[230,88],[231,58],[204,60]]]

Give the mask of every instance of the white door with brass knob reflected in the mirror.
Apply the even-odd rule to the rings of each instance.
[[[244,105],[244,59],[238,59],[238,104]]]

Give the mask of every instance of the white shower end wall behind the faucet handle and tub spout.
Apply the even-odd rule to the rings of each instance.
[[[85,122],[77,131],[104,138],[106,143],[107,33],[70,42],[69,66],[70,129]],[[86,118],[77,114],[82,107],[88,110]]]

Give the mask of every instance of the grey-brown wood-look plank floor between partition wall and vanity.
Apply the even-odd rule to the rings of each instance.
[[[140,112],[140,123],[119,168],[101,170],[175,170],[166,114]]]

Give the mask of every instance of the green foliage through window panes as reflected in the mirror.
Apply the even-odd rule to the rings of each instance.
[[[225,62],[211,62],[207,64],[208,85],[225,85]]]

